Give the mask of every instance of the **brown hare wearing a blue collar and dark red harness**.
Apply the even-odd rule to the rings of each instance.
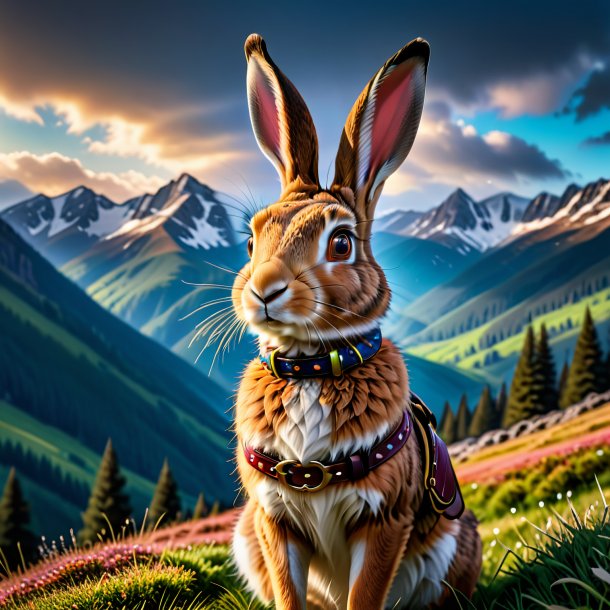
[[[260,345],[235,406],[248,497],[235,562],[280,610],[449,607],[452,588],[473,592],[481,542],[433,417],[381,338],[390,290],[370,243],[383,184],[418,129],[428,43],[410,42],[365,87],[329,188],[302,97],[259,35],[245,52],[254,134],[282,193],[252,218],[232,289]]]

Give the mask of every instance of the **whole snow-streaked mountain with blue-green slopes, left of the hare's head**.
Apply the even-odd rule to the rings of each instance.
[[[56,198],[44,195],[3,214],[29,243],[103,307],[193,363],[195,324],[221,307],[183,318],[226,289],[247,260],[226,196],[183,174],[159,189],[122,204],[79,187]],[[201,343],[199,344],[202,345]],[[195,346],[195,348],[197,345]],[[206,373],[214,357],[200,361]],[[252,349],[244,343],[212,376],[227,390]]]

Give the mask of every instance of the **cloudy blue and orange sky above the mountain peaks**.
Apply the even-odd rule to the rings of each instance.
[[[381,211],[428,209],[456,187],[533,197],[610,178],[607,0],[0,0],[0,192],[85,184],[123,201],[189,172],[274,201],[246,101],[252,32],[310,108],[323,185],[368,80],[429,41],[420,130]]]

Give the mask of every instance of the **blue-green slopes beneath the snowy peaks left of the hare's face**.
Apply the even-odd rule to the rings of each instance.
[[[199,284],[232,285],[233,274],[218,267],[239,269],[247,257],[245,248],[181,249],[161,231],[130,242],[129,253],[125,245],[123,238],[99,242],[61,270],[105,309],[193,364],[202,346],[187,348],[196,324],[228,303],[185,316],[230,295],[226,289]],[[207,350],[197,369],[207,375],[213,356],[214,349]],[[238,349],[223,367],[214,367],[211,378],[227,393],[234,391],[252,356],[251,350]]]

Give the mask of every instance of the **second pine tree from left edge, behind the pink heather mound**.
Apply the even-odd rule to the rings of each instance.
[[[78,533],[81,544],[118,536],[131,516],[129,498],[124,493],[125,477],[121,474],[112,441],[108,439],[87,510],[83,514],[83,528]]]

